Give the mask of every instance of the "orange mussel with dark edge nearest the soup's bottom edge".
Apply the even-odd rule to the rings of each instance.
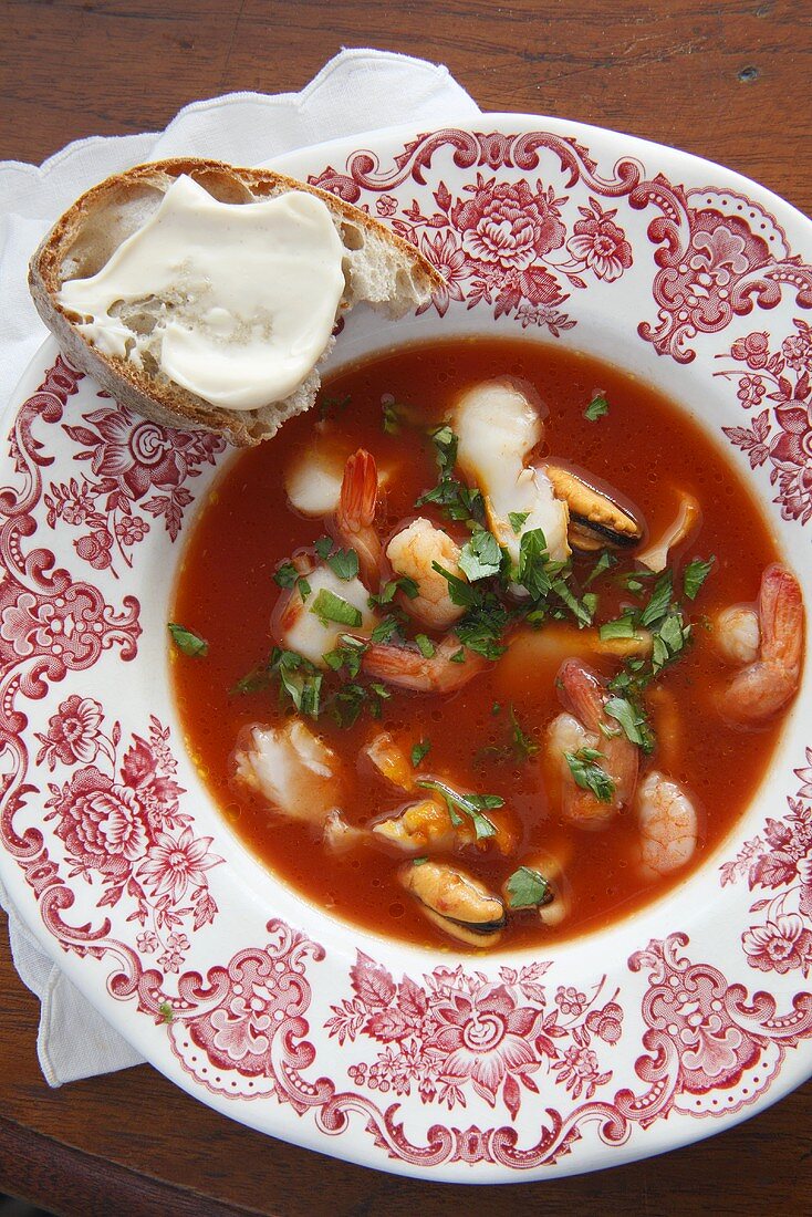
[[[399,869],[398,879],[419,901],[424,915],[458,942],[485,947],[502,937],[504,904],[458,867],[418,858]]]

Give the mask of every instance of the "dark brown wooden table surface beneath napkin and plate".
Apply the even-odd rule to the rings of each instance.
[[[808,0],[1,0],[0,158],[162,128],[197,97],[298,90],[341,46],[448,65],[486,110],[721,161],[812,211]],[[404,114],[404,119],[408,118]],[[0,1190],[65,1213],[810,1211],[812,1083],[691,1149],[579,1179],[416,1184],[247,1132],[141,1067],[51,1092],[0,924]]]

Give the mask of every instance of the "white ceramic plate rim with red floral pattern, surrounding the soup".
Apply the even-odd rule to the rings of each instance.
[[[334,359],[525,333],[682,403],[765,505],[812,605],[812,225],[684,153],[559,119],[376,134],[280,168],[448,277]],[[166,622],[228,459],[119,409],[47,343],[0,494],[0,875],[71,980],[235,1120],[380,1170],[504,1182],[706,1137],[812,1072],[812,682],[747,815],[611,931],[485,959],[336,922],[233,835],[184,751]],[[170,1021],[168,1021],[170,1017]]]

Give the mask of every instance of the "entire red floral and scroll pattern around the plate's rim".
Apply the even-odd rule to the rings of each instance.
[[[313,180],[368,209],[374,201],[443,269],[441,315],[487,304],[558,335],[578,323],[584,293],[606,293],[612,307],[628,277],[650,268],[659,321],[639,321],[638,333],[687,363],[694,337],[779,305],[782,292],[812,303],[808,268],[758,204],[646,176],[631,157],[605,176],[583,144],[549,131],[436,131],[390,168],[353,152],[346,173],[326,168]],[[657,214],[645,215],[642,240],[650,208]],[[777,314],[783,326],[786,312]],[[789,333],[773,331],[732,336],[719,375],[760,413],[727,433],[754,469],[769,462],[784,518],[806,522],[811,331],[802,319]],[[744,875],[768,893],[743,924],[740,959],[774,992],[750,996],[723,968],[691,961],[682,932],[614,966],[611,996],[605,977],[587,983],[539,960],[396,980],[359,952],[347,975],[279,918],[264,944],[231,942],[228,961],[212,963],[226,920],[215,916],[212,887],[228,868],[195,828],[167,728],[152,718],[124,740],[111,700],[118,664],[138,654],[139,600],[111,605],[101,587],[56,563],[57,554],[75,555],[103,585],[116,587],[114,574],[124,590],[140,588],[135,553],[179,535],[194,478],[220,445],[147,424],[99,393],[62,424],[80,381],[57,360],[10,437],[16,484],[0,494],[0,843],[60,946],[113,965],[108,993],[156,1025],[155,1059],[163,1062],[168,1047],[201,1092],[237,1104],[273,1097],[324,1138],[355,1146],[366,1138],[377,1154],[355,1155],[424,1173],[489,1165],[504,1178],[576,1155],[594,1165],[581,1155],[595,1138],[611,1150],[634,1137],[645,1152],[645,1129],[666,1116],[723,1116],[757,1101],[788,1050],[812,1036],[812,996],[797,987],[812,965],[812,755],[789,814],[768,819],[722,875],[724,899]],[[147,516],[164,517],[163,534]],[[52,548],[32,545],[37,533]],[[96,669],[112,672],[112,683],[96,683]],[[78,672],[86,680],[57,692]],[[729,952],[728,943],[735,971]],[[438,1118],[447,1112],[453,1122]]]

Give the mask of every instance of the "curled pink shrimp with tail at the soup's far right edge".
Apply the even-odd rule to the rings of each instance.
[[[724,718],[740,727],[767,722],[786,705],[799,685],[803,599],[797,579],[784,566],[768,566],[761,578],[758,627],[757,657],[734,675],[719,697]]]

